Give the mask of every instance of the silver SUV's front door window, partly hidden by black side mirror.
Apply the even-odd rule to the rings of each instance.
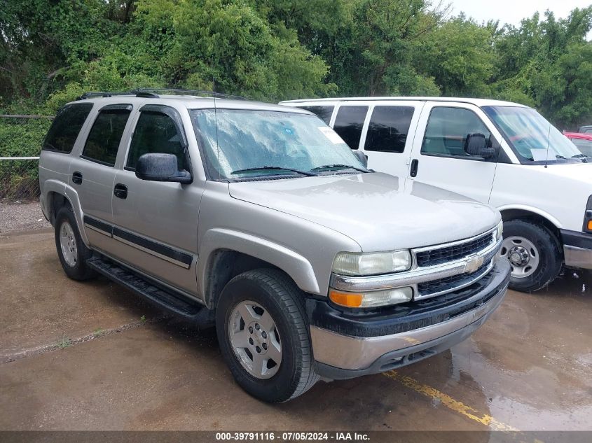
[[[139,157],[151,153],[177,155],[179,169],[188,169],[181,136],[172,118],[159,112],[142,111],[132,136],[126,166],[135,169]]]

